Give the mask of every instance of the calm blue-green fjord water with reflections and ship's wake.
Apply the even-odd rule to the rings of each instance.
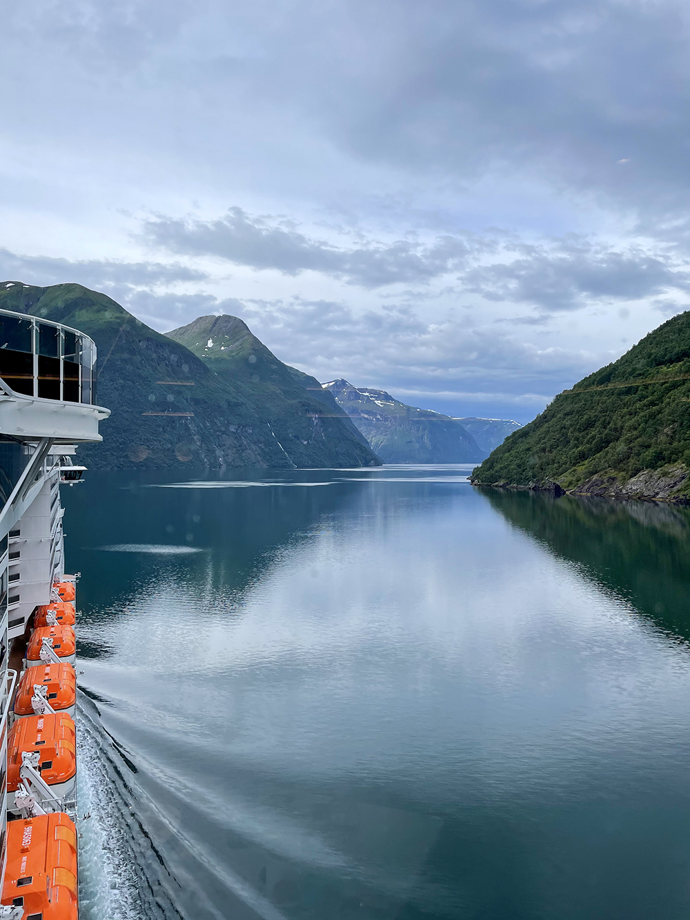
[[[83,920],[690,909],[690,513],[465,467],[66,489]]]

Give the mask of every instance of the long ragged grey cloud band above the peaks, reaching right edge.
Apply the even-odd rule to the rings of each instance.
[[[167,217],[147,221],[144,236],[186,256],[210,255],[288,275],[314,270],[370,289],[393,283],[426,285],[456,272],[462,282],[458,292],[528,303],[546,312],[690,290],[690,272],[667,255],[641,247],[618,251],[573,235],[537,245],[492,230],[485,236],[437,236],[431,245],[405,240],[385,246],[364,240],[363,245],[344,248],[305,236],[290,222],[250,217],[236,207],[213,221]],[[476,264],[501,249],[506,260]],[[515,254],[519,258],[510,259]],[[415,293],[398,293],[400,297],[413,301]]]

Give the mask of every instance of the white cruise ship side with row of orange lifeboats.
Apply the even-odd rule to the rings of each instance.
[[[96,346],[0,310],[0,917],[76,920],[75,591],[60,484],[100,441]]]

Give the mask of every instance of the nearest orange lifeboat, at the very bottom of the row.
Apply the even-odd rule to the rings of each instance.
[[[76,828],[63,812],[7,824],[2,903],[25,917],[76,920]]]

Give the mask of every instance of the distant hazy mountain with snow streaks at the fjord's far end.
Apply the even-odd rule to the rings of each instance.
[[[462,425],[430,409],[406,406],[385,390],[324,384],[385,463],[474,463],[486,456]]]

